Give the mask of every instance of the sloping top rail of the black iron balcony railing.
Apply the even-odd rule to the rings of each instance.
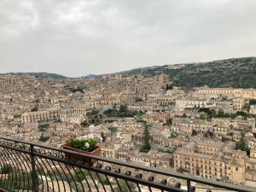
[[[241,192],[255,192],[256,191],[256,189],[253,189],[253,188],[238,186],[238,185],[234,185],[234,184],[231,184],[231,183],[217,182],[217,181],[214,181],[214,180],[211,180],[211,179],[206,179],[206,178],[202,178],[202,177],[195,177],[194,175],[190,175],[190,174],[183,174],[183,173],[179,173],[179,172],[166,171],[166,170],[163,170],[163,169],[160,169],[160,168],[151,168],[151,167],[147,167],[147,166],[138,166],[136,164],[132,164],[132,163],[129,163],[129,162],[124,162],[124,161],[121,161],[121,160],[111,160],[111,159],[108,159],[108,158],[99,157],[99,156],[95,156],[95,155],[91,155],[91,154],[83,154],[83,153],[80,153],[80,152],[67,150],[67,149],[63,149],[63,148],[53,148],[53,147],[49,147],[49,146],[46,146],[46,145],[43,145],[43,144],[25,142],[25,141],[22,141],[22,140],[19,140],[19,139],[14,139],[14,138],[9,138],[9,137],[0,137],[0,140],[15,142],[15,143],[24,143],[24,144],[32,145],[34,147],[45,148],[45,149],[49,149],[49,150],[59,151],[59,152],[62,152],[62,153],[66,152],[66,153],[69,153],[69,154],[79,154],[79,155],[87,157],[87,158],[104,161],[104,162],[111,163],[111,164],[118,165],[118,166],[126,166],[126,167],[130,167],[130,168],[138,169],[138,170],[141,170],[141,171],[153,172],[153,173],[156,173],[156,174],[165,175],[167,177],[177,177],[177,178],[184,179],[184,180],[187,180],[187,181],[189,180],[189,181],[196,182],[196,183],[203,183],[203,184],[207,184],[207,185],[222,188],[222,189],[231,189],[231,190],[234,190],[234,191],[241,191]],[[35,154],[37,154],[37,153],[35,152]]]

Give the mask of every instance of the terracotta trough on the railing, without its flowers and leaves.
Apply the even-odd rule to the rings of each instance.
[[[96,146],[96,149],[93,150],[93,151],[90,151],[90,152],[89,151],[83,151],[83,150],[80,150],[78,148],[70,147],[67,144],[62,144],[61,147],[64,148],[64,149],[67,149],[67,150],[74,151],[74,152],[79,152],[79,153],[82,153],[82,154],[91,154],[91,155],[95,155],[95,156],[100,156],[101,155],[101,150],[102,150],[102,148],[99,147],[99,146]],[[95,163],[97,161],[95,159],[90,160],[90,158],[85,157],[85,156],[80,155],[80,154],[72,154],[72,153],[65,152],[65,155],[69,158],[76,159],[76,160],[81,160],[81,161],[84,161],[84,162]]]

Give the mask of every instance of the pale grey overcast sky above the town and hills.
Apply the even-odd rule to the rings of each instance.
[[[0,73],[256,56],[256,0],[0,0]]]

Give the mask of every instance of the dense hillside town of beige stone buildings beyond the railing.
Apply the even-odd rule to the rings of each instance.
[[[177,87],[165,73],[96,79],[0,76],[0,135],[225,183],[256,183],[256,89]]]

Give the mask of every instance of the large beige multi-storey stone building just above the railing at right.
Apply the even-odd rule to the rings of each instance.
[[[218,181],[245,183],[245,152],[233,149],[234,143],[195,137],[174,153],[174,169]]]

